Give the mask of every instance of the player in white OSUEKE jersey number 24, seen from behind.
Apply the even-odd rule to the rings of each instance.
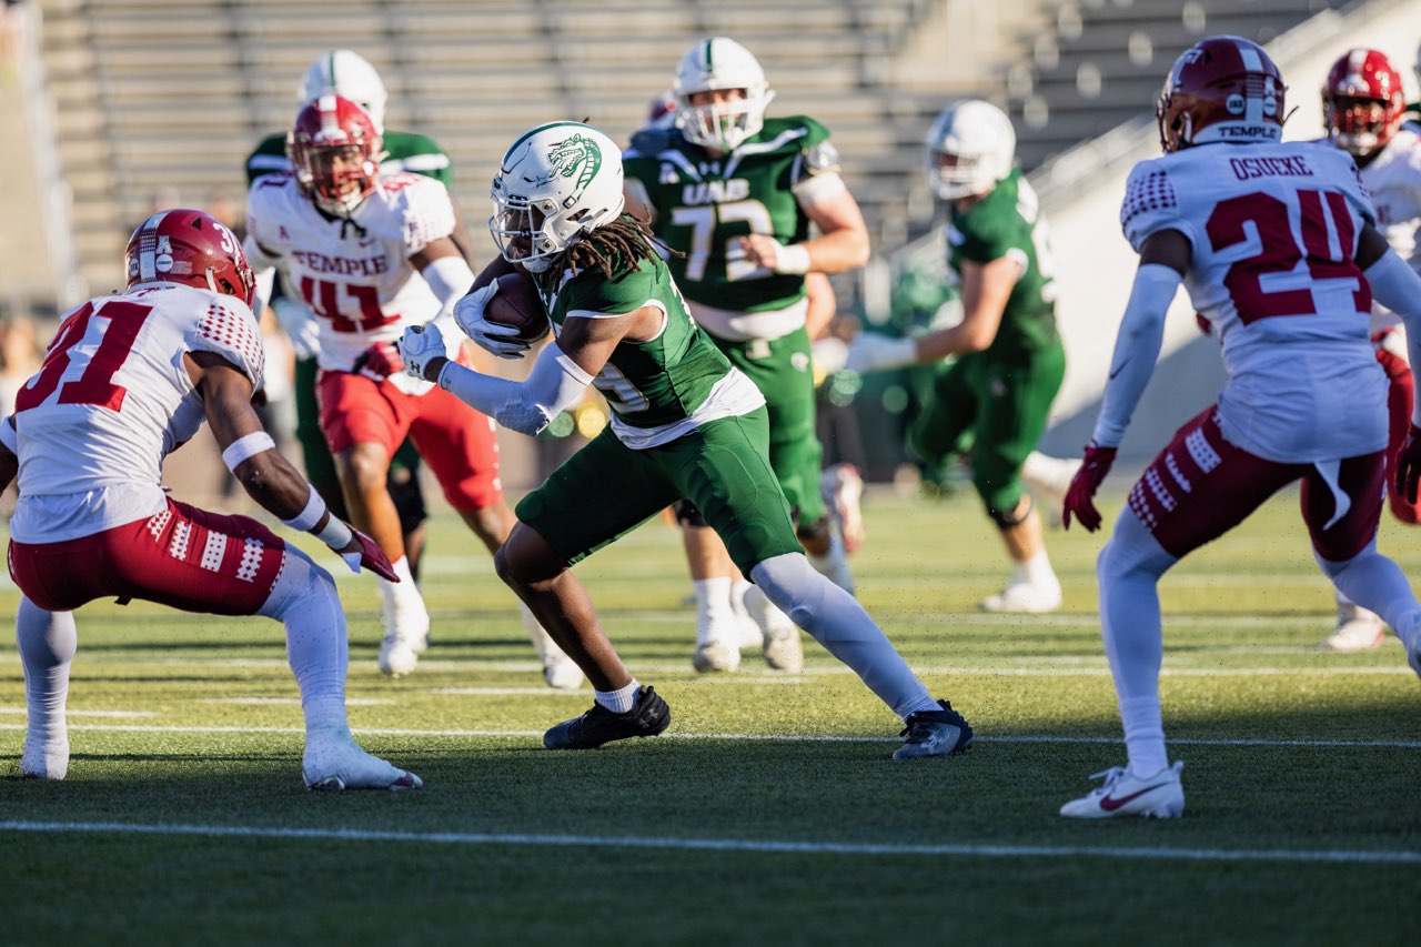
[[[1135,165],[1120,210],[1140,253],[1106,395],[1063,518],[1098,529],[1093,498],[1154,373],[1179,284],[1218,333],[1228,381],[1145,469],[1100,553],[1101,637],[1128,765],[1061,806],[1070,818],[1178,816],[1182,764],[1160,707],[1161,576],[1280,488],[1302,481],[1319,567],[1390,624],[1421,674],[1421,606],[1377,552],[1387,475],[1387,377],[1371,299],[1407,327],[1421,364],[1421,277],[1388,246],[1351,156],[1282,144],[1283,78],[1262,47],[1211,37],[1187,50],[1155,108],[1165,155]],[[1415,499],[1421,422],[1398,455]]]

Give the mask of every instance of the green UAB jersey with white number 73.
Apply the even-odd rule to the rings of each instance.
[[[828,131],[811,118],[767,118],[759,134],[712,158],[675,128],[647,128],[622,155],[628,186],[655,212],[652,230],[668,246],[676,286],[693,303],[756,313],[804,297],[804,277],[773,273],[745,259],[739,237],[766,233],[780,243],[809,236],[794,188],[838,169]]]

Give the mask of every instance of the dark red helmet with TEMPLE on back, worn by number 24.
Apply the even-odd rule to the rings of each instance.
[[[1155,102],[1160,145],[1276,142],[1283,138],[1283,75],[1258,43],[1211,36],[1185,50]]]

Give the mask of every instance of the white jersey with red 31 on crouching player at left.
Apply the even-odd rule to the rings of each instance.
[[[64,317],[16,397],[14,539],[65,542],[166,506],[163,458],[206,417],[183,364],[190,351],[222,355],[261,385],[261,331],[232,296],[149,283]]]

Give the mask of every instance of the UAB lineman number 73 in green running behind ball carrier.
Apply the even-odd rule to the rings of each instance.
[[[811,118],[766,118],[774,92],[743,46],[696,43],[681,60],[676,121],[651,127],[624,161],[630,209],[675,253],[669,266],[696,323],[759,385],[770,417],[770,464],[814,567],[853,590],[841,537],[820,495],[814,377],[804,327],[810,270],[863,266],[868,230],[838,175],[828,131]],[[811,237],[817,226],[820,236]],[[696,589],[696,670],[739,664],[733,566],[705,510],[678,508]],[[746,604],[772,667],[803,664],[793,623],[753,590]]]

